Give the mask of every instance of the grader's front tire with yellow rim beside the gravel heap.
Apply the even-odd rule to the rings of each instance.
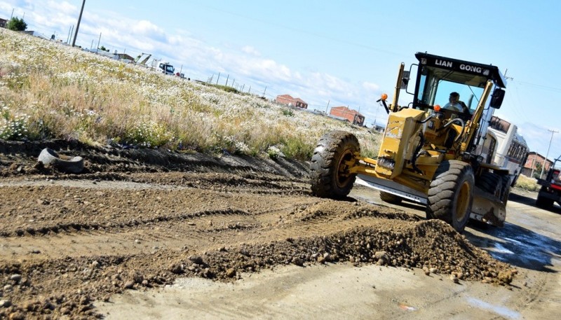
[[[463,232],[471,214],[474,180],[473,169],[466,162],[440,163],[428,190],[426,217],[446,221]]]

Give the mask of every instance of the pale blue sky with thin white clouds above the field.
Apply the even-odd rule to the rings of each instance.
[[[81,0],[0,1],[0,18],[67,41]],[[185,76],[290,94],[325,111],[349,106],[384,125],[400,62],[426,51],[494,64],[508,79],[496,116],[518,125],[531,151],[561,155],[560,1],[86,0],[76,45],[151,53]],[[409,102],[401,95],[400,102]]]

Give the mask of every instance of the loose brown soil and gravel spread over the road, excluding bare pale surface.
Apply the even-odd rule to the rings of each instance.
[[[80,150],[92,161],[82,175],[23,158],[22,176],[1,172],[0,288],[10,306],[0,318],[94,319],[94,300],[128,288],[180,276],[233,281],[286,264],[348,261],[512,279],[508,265],[441,221],[311,197],[296,163],[163,151],[96,150],[88,158]]]

